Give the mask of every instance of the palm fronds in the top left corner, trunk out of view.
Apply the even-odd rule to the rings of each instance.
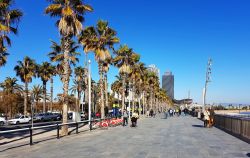
[[[23,13],[19,9],[11,9],[14,0],[0,1],[0,66],[7,61],[6,45],[11,46],[9,33],[17,34],[17,26]]]

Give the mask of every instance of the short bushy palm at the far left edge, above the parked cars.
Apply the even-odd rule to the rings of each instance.
[[[9,116],[12,116],[13,99],[17,93],[22,92],[22,86],[17,84],[16,78],[7,77],[3,83],[0,83],[0,87],[3,89],[3,94],[6,96],[5,100],[9,100],[8,106],[10,106],[10,110],[8,111],[8,106],[6,106],[6,114],[9,112]]]

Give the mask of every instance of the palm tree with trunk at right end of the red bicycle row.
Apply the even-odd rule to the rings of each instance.
[[[133,49],[129,48],[127,45],[120,46],[117,51],[114,51],[115,57],[113,59],[113,64],[119,68],[119,73],[122,76],[122,112],[125,106],[125,83],[126,77],[131,72],[131,67],[140,60],[140,56],[133,52]]]

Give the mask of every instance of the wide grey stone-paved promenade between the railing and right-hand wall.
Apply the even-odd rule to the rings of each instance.
[[[80,133],[6,150],[0,157],[243,158],[250,157],[250,145],[217,128],[202,128],[193,117],[158,117],[140,119],[137,128]]]

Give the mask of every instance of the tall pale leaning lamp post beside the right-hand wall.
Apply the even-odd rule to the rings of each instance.
[[[205,87],[203,89],[203,107],[202,107],[203,113],[205,111],[205,106],[206,106],[207,85],[209,82],[211,82],[211,73],[212,73],[211,66],[212,66],[212,59],[209,58],[207,63],[206,82],[205,82]]]

